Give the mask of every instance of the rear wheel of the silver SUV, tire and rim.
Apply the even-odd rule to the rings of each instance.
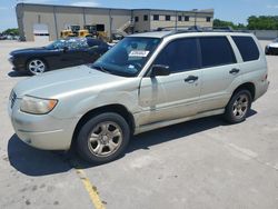
[[[239,123],[246,120],[251,108],[251,93],[248,90],[235,92],[226,107],[225,119],[229,123]]]

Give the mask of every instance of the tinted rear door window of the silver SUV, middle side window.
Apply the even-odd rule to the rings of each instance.
[[[202,67],[215,67],[236,63],[230,42],[226,37],[201,37]]]

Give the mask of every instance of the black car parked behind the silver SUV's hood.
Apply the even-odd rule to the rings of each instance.
[[[60,39],[47,47],[16,50],[10,53],[13,70],[40,74],[48,70],[92,63],[110,46],[91,38]]]

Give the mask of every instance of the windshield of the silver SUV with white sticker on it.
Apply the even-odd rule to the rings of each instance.
[[[127,37],[98,59],[92,68],[122,77],[136,77],[161,39]]]

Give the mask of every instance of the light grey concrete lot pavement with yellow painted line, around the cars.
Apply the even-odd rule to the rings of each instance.
[[[122,158],[93,167],[14,135],[9,93],[28,76],[12,71],[9,52],[41,44],[0,41],[1,209],[278,208],[278,56],[267,57],[269,90],[245,122],[210,117],[146,132]]]

